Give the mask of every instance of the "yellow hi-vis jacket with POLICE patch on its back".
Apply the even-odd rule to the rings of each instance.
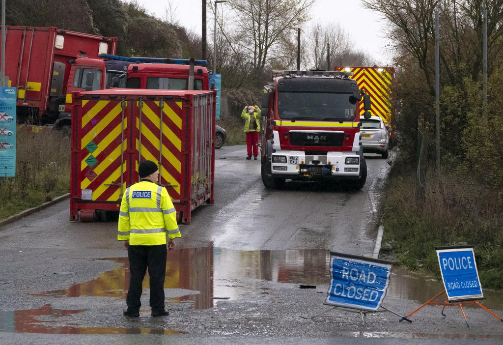
[[[130,245],[166,244],[181,237],[177,211],[164,187],[150,181],[129,186],[122,197],[117,239]]]

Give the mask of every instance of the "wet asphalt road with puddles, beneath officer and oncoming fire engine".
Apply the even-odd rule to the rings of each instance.
[[[329,251],[372,254],[389,169],[366,155],[362,191],[293,183],[266,190],[244,146],[217,150],[215,205],[194,211],[169,253],[166,308],[151,318],[148,285],[137,320],[121,315],[128,274],[116,223],[68,221],[68,200],[0,228],[0,343],[500,343],[503,323],[468,308],[446,319],[429,306],[412,324],[389,313],[323,310]],[[407,314],[442,291],[394,269],[384,305]],[[315,285],[299,289],[299,284]],[[486,294],[487,295],[487,294]],[[501,293],[487,306],[501,315]],[[490,300],[490,301],[489,301]],[[492,303],[492,304],[491,304]],[[440,307],[439,307],[440,308]]]

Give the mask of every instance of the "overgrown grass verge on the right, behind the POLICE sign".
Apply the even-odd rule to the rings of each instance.
[[[395,162],[383,210],[381,252],[408,269],[426,269],[440,278],[435,247],[474,246],[481,284],[503,289],[503,202],[500,191],[468,171],[451,166],[427,174],[425,198],[416,201],[416,171]]]

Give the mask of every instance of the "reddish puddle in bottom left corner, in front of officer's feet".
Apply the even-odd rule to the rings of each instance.
[[[78,323],[67,322],[74,314],[84,309],[54,309],[46,304],[38,309],[16,310],[0,313],[0,332],[45,333],[45,334],[181,334],[170,329],[81,327]],[[64,326],[59,324],[64,323]],[[58,324],[58,325],[56,325]]]

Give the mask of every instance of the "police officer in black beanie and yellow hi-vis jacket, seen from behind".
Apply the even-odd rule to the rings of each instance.
[[[177,211],[164,187],[157,185],[159,170],[151,160],[140,162],[140,182],[129,186],[122,197],[117,239],[128,249],[130,281],[125,316],[138,317],[142,282],[148,267],[152,316],[166,316],[164,278],[167,248],[181,237]]]

